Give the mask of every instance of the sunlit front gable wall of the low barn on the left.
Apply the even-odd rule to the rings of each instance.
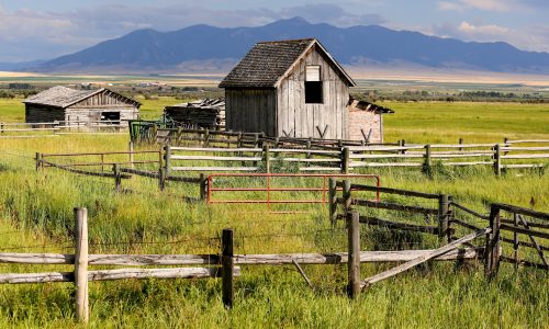
[[[120,112],[121,125],[127,126],[125,120],[136,120],[139,117],[139,109],[134,104],[124,102],[123,99],[117,99],[115,94],[102,92],[88,98],[79,103],[76,103],[65,111],[65,121],[86,122],[100,121],[102,112]]]

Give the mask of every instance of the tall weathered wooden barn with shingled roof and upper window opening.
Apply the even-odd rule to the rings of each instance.
[[[316,38],[256,44],[220,83],[227,131],[348,138],[355,81]]]

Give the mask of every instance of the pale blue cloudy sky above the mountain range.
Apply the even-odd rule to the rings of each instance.
[[[259,26],[293,16],[549,53],[549,0],[0,0],[0,61],[52,59],[138,29]]]

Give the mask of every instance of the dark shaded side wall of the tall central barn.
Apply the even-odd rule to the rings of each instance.
[[[277,134],[274,89],[225,89],[227,131]]]

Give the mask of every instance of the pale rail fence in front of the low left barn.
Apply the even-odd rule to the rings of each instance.
[[[0,123],[0,138],[57,137],[70,134],[125,134],[123,121],[56,121],[45,123]]]

